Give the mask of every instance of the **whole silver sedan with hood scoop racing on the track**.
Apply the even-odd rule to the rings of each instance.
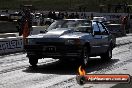
[[[116,39],[105,25],[87,19],[64,19],[53,22],[46,33],[31,35],[25,45],[29,63],[35,66],[38,59],[53,58],[78,60],[86,65],[90,56],[112,58]]]

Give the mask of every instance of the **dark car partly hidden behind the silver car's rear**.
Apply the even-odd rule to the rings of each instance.
[[[125,29],[122,24],[107,24],[107,28],[115,37],[126,35]]]

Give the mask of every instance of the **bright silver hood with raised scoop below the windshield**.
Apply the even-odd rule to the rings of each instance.
[[[28,38],[81,38],[88,33],[74,32],[68,28],[57,28],[46,32],[45,34],[31,35]]]

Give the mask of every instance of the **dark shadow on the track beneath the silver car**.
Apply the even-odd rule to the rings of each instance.
[[[99,58],[90,60],[85,68],[86,73],[100,71],[111,67],[117,63],[119,59],[111,59],[110,61],[102,61]],[[27,67],[23,72],[27,73],[42,73],[42,74],[60,74],[60,75],[76,75],[78,73],[79,64],[76,61],[61,62],[56,61],[49,64],[38,65],[37,67]]]

